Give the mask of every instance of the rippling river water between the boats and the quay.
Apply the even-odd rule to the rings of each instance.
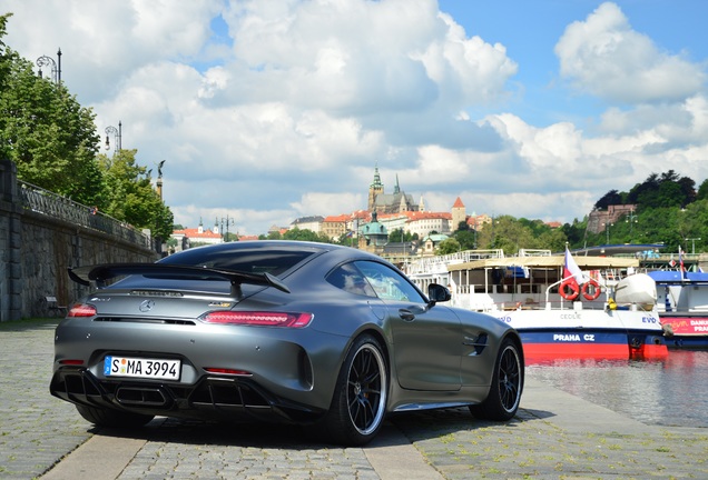
[[[708,428],[708,351],[661,361],[555,360],[527,376],[646,424]]]

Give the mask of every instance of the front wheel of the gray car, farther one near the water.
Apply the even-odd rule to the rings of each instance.
[[[521,391],[523,390],[523,362],[519,347],[505,339],[494,364],[492,386],[489,394],[479,404],[470,406],[476,418],[486,420],[511,420],[519,410]]]

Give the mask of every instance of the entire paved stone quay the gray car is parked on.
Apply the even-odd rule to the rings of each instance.
[[[533,378],[510,423],[466,409],[397,414],[363,449],[281,426],[96,431],[48,392],[52,331],[0,326],[2,479],[708,478],[707,429],[645,426]]]

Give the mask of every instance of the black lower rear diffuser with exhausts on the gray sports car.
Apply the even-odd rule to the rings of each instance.
[[[208,376],[184,386],[101,380],[86,368],[62,368],[55,372],[49,391],[77,404],[201,420],[309,423],[325,413],[279,398],[247,378]]]

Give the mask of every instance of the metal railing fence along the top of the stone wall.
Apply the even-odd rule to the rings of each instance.
[[[95,207],[87,207],[23,181],[18,181],[18,187],[22,198],[22,207],[27,210],[108,233],[135,244],[153,248],[149,234],[101,213]]]

